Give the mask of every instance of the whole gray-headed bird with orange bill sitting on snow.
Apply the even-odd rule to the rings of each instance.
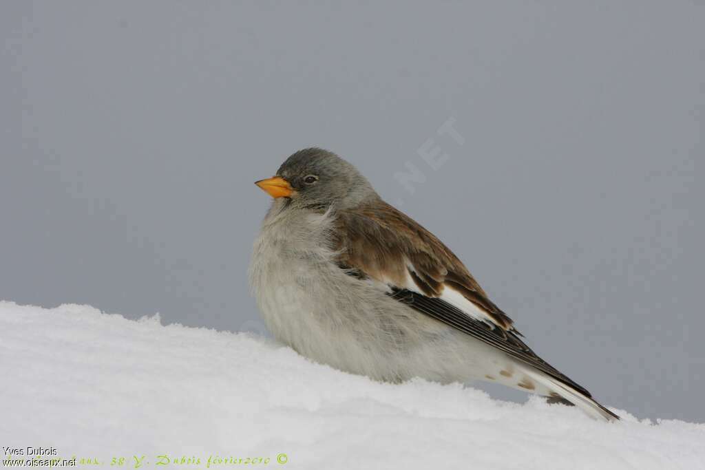
[[[462,261],[353,164],[302,149],[255,184],[273,201],[248,277],[279,342],[376,381],[487,381],[619,419],[534,353]]]

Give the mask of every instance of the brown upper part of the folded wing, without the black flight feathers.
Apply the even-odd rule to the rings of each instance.
[[[458,257],[412,218],[382,203],[340,211],[336,223],[342,266],[427,297],[457,292],[484,320],[514,330],[512,319],[491,302]]]

